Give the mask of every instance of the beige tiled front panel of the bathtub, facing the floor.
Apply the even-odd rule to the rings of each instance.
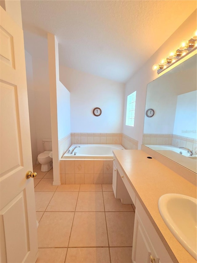
[[[113,159],[60,160],[61,184],[111,184]]]

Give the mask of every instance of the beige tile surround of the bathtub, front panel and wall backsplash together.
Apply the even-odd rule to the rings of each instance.
[[[71,144],[120,144],[126,150],[138,149],[138,141],[122,133],[71,133],[59,141],[59,156],[62,157]],[[59,165],[61,184],[112,183],[112,160],[61,159]]]

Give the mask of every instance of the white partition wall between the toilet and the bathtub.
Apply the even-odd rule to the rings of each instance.
[[[59,158],[63,142],[70,135],[70,92],[59,81],[58,41],[55,35],[48,33],[50,115],[53,146],[53,185],[61,184]],[[61,140],[63,139],[63,140]],[[69,143],[70,139],[66,139]],[[65,180],[64,182],[65,183]]]

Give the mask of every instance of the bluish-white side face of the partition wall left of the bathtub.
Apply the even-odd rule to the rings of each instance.
[[[58,80],[57,82],[58,109],[58,140],[70,134],[70,92]]]

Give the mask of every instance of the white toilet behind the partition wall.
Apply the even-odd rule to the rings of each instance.
[[[53,167],[53,158],[49,156],[52,152],[52,141],[51,139],[43,139],[42,142],[44,152],[38,155],[38,162],[41,164],[41,171],[47,172]]]

